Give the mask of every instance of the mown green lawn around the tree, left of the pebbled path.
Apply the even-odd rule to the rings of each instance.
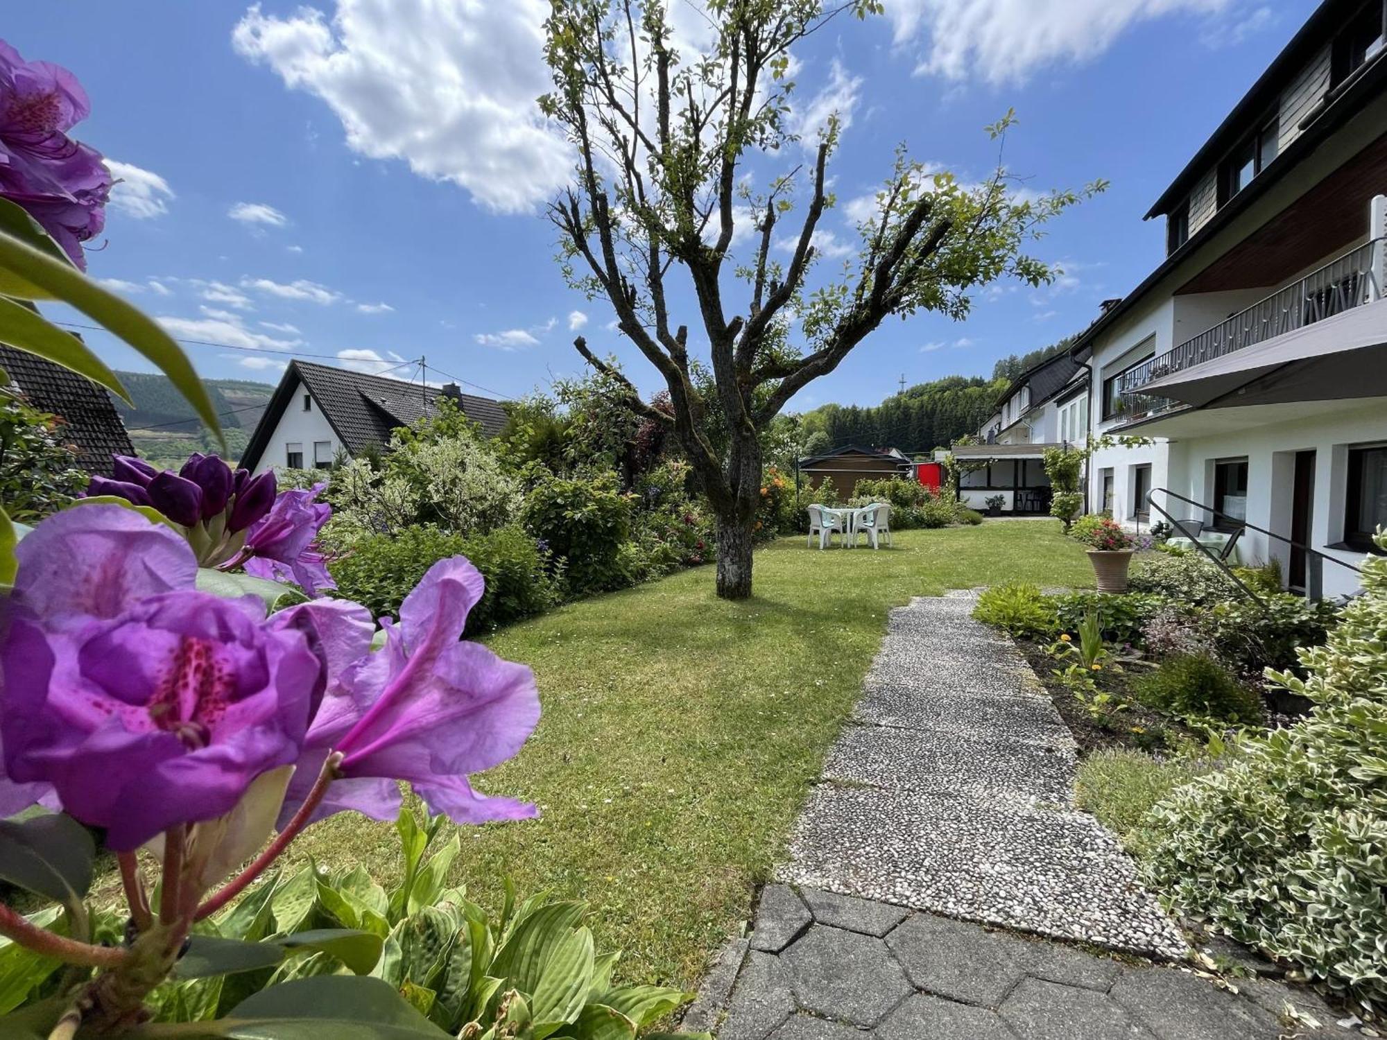
[[[498,632],[534,667],[544,717],[479,786],[534,800],[541,818],[463,831],[454,871],[492,903],[505,875],[592,903],[628,980],[692,986],[750,911],[857,697],[886,612],[911,596],[1008,578],[1087,585],[1058,521],[896,534],[896,548],[756,553],[756,596],[724,603],[713,569],[584,600]],[[298,856],[395,869],[388,826],[343,814]]]

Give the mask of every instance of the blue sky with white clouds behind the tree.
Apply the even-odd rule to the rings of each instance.
[[[999,286],[963,323],[888,320],[795,408],[875,404],[900,374],[988,374],[1087,324],[1160,261],[1164,230],[1142,215],[1313,8],[886,3],[886,17],[842,18],[796,54],[800,111],[849,121],[829,169],[841,204],[874,190],[900,141],[982,177],[996,158],[982,126],[1008,107],[1019,125],[1006,162],[1028,187],[1111,187],[1033,247],[1065,268],[1056,286]],[[546,6],[51,0],[7,11],[4,37],[76,72],[93,114],[75,136],[126,177],[90,273],[176,336],[270,351],[189,345],[204,376],[273,381],[290,354],[368,367],[423,355],[515,397],[580,369],[581,327],[652,391],[609,308],[569,290],[553,261],[541,209],[565,153],[533,107]],[[849,244],[845,208],[824,226]],[[147,367],[90,341],[115,366]]]

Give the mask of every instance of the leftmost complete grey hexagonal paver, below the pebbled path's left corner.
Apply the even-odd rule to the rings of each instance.
[[[881,939],[814,925],[781,954],[799,1004],[872,1026],[911,991]]]

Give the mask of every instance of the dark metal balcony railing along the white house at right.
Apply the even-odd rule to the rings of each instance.
[[[1266,343],[1377,300],[1381,293],[1375,284],[1373,254],[1383,244],[1383,240],[1365,243],[1212,329],[1205,329],[1173,351],[1133,365],[1122,373],[1121,417],[1130,422],[1179,408],[1179,401],[1142,392],[1142,387],[1162,376]]]

